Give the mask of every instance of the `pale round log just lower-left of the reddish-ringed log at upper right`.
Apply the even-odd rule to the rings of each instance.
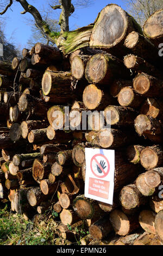
[[[118,103],[121,106],[129,106],[130,108],[137,109],[141,106],[144,99],[136,94],[130,87],[123,87],[118,93]]]

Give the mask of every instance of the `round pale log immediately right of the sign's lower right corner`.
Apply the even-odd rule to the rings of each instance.
[[[120,192],[120,203],[125,209],[135,209],[137,206],[145,205],[146,198],[136,188],[135,184],[130,184],[122,188]]]

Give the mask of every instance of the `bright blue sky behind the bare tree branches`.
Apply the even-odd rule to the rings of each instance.
[[[29,4],[33,4],[39,11],[43,9],[43,5],[46,5],[48,1],[46,0],[28,0]],[[92,0],[93,4],[90,7],[84,9],[76,9],[73,16],[70,17],[70,30],[76,29],[78,27],[86,26],[93,21],[95,21],[99,11],[101,11],[107,4],[115,3],[120,5],[125,9],[123,1],[114,0]],[[30,14],[20,14],[23,8],[20,3],[15,2],[12,4],[11,8],[8,9],[7,13],[4,15],[6,17],[5,21],[5,35],[7,38],[19,45],[21,48],[26,47],[27,41],[31,35],[31,27],[28,25],[28,21],[25,19],[30,19],[32,15]],[[59,16],[59,11],[56,12],[56,19]]]

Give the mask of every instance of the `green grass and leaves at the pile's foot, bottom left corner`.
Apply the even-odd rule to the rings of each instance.
[[[8,204],[3,204],[0,207],[0,245],[66,244],[55,234],[57,222],[53,218],[40,216],[36,222],[11,213]]]

